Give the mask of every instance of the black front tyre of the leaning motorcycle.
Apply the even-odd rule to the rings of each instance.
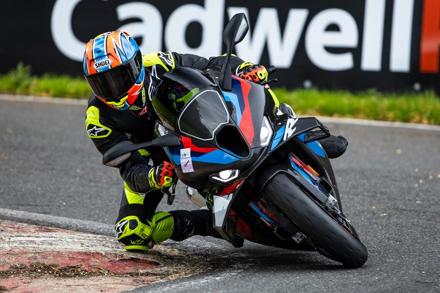
[[[346,267],[358,268],[368,258],[365,246],[294,184],[276,174],[264,188],[265,197],[292,220],[319,248]]]

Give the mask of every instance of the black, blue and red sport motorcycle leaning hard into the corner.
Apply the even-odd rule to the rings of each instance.
[[[121,142],[103,163],[118,167],[137,149],[163,147],[187,195],[212,211],[213,227],[234,247],[245,239],[318,251],[360,267],[367,249],[342,211],[330,160],[318,142],[330,130],[314,117],[280,111],[268,86],[274,80],[260,85],[232,75],[232,49],[247,31],[244,14],[227,24],[221,71],[176,67],[164,74],[152,99],[157,138]],[[175,187],[163,188],[169,204]]]

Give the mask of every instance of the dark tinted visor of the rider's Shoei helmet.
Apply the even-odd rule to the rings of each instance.
[[[136,83],[141,70],[142,54],[137,51],[131,60],[104,72],[85,75],[85,78],[97,97],[111,101],[128,92]]]

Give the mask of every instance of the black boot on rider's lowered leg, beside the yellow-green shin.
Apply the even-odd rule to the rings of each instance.
[[[212,213],[208,209],[172,210],[174,232],[171,239],[182,241],[194,235],[222,238],[212,227]]]

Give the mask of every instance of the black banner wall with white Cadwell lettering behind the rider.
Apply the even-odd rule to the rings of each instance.
[[[245,12],[245,61],[275,65],[287,88],[424,90],[440,84],[439,0],[129,1],[2,3],[0,72],[19,61],[34,73],[81,74],[86,42],[121,29],[144,54],[224,53],[222,29]]]

